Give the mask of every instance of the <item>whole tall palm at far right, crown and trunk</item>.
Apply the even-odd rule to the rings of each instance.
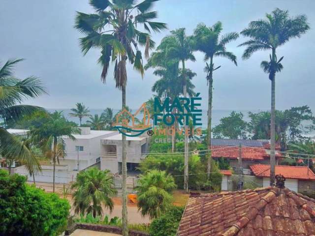
[[[276,88],[276,73],[283,68],[280,61],[277,59],[276,50],[284,45],[289,39],[301,37],[310,29],[305,15],[299,15],[290,18],[287,10],[276,8],[271,14],[266,14],[264,20],[252,21],[249,27],[244,29],[241,34],[250,37],[251,39],[240,44],[246,46],[243,54],[243,59],[249,59],[254,52],[271,51],[270,61],[262,61],[261,67],[264,72],[269,74],[271,80],[271,122],[270,122],[270,185],[275,183],[275,88]]]

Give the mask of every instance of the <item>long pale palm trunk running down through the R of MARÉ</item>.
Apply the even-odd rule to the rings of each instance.
[[[187,97],[187,86],[186,86],[186,68],[185,68],[185,60],[182,60],[182,64],[183,64],[183,94],[184,97]],[[186,114],[187,111],[184,108],[184,114]],[[188,125],[186,125],[186,121],[187,118],[185,117],[184,119],[185,121],[185,142],[184,142],[184,152],[185,152],[185,169],[184,169],[184,189],[186,190],[186,192],[188,193],[188,162],[189,162],[189,153],[188,153]]]

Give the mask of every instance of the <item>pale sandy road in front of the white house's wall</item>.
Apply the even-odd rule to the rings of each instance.
[[[32,182],[29,182],[32,184]],[[45,189],[46,192],[52,192],[53,187],[52,183],[42,183],[42,182],[36,182],[36,187]],[[55,184],[55,191],[57,194],[60,195],[61,198],[63,198],[63,184]],[[66,195],[67,200],[70,202],[70,205],[72,206],[72,196],[70,194]],[[112,198],[114,202],[114,209],[110,213],[110,211],[107,208],[103,208],[104,215],[109,215],[109,217],[115,217],[118,216],[119,218],[122,218],[122,199],[120,197],[114,197]],[[141,223],[150,223],[149,217],[142,217],[140,212],[138,212],[138,207],[136,204],[129,203],[127,205],[127,211],[128,211],[128,221],[131,224],[141,224]],[[73,208],[71,208],[71,214],[74,214]]]

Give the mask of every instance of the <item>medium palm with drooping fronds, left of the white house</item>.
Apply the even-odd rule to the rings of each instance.
[[[42,149],[44,155],[52,160],[53,164],[53,192],[55,192],[56,163],[66,154],[64,151],[64,137],[75,140],[73,134],[79,134],[80,130],[73,127],[62,115],[62,112],[50,114],[45,122],[33,126],[30,135],[34,143]]]

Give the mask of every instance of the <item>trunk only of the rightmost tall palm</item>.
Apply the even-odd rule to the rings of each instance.
[[[276,51],[272,50],[272,61],[276,60]],[[270,186],[275,183],[275,143],[276,143],[276,73],[272,73],[271,78],[271,121],[270,121]]]

